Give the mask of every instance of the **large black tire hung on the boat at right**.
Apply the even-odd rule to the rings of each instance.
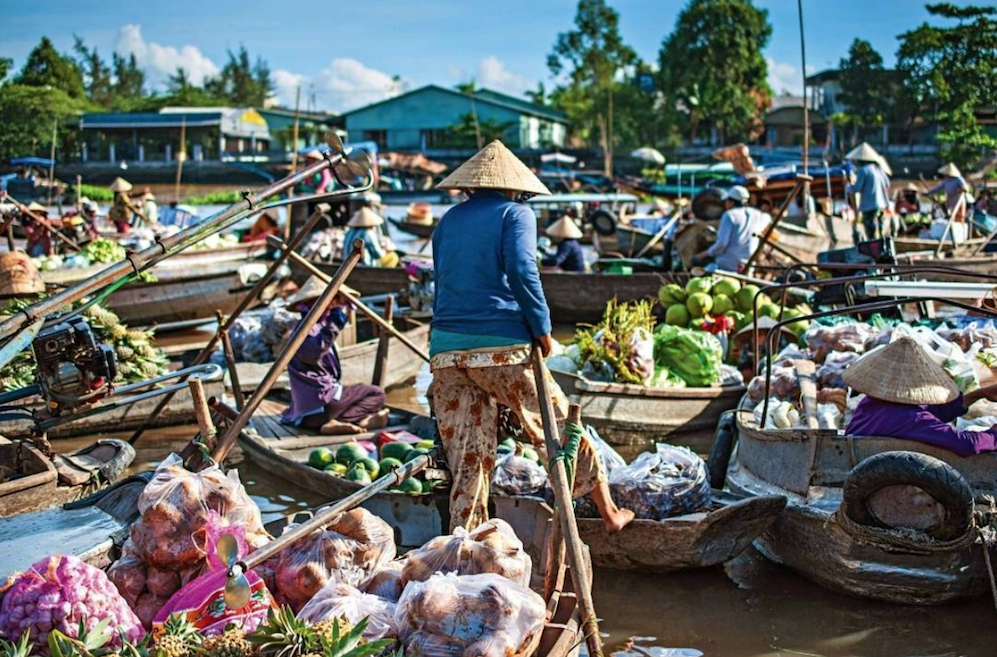
[[[869,497],[887,486],[917,486],[945,508],[945,519],[926,530],[942,541],[964,535],[973,524],[973,489],[948,463],[919,452],[875,454],[855,466],[845,480],[842,511],[854,522],[886,527],[869,508]]]

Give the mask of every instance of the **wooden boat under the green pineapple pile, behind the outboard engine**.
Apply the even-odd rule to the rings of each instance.
[[[221,381],[206,381],[204,391],[209,397],[221,398],[225,392],[225,385]],[[160,397],[145,399],[130,406],[109,410],[106,413],[98,413],[89,417],[84,417],[74,422],[67,422],[49,429],[49,438],[70,438],[73,436],[86,436],[90,434],[100,434],[105,431],[130,431],[137,429],[149,418],[149,414],[159,404]],[[40,404],[41,402],[36,402]],[[177,392],[170,403],[157,415],[151,419],[150,427],[171,427],[180,424],[193,424],[196,420],[194,416],[194,402],[190,397],[190,390],[186,387]],[[3,434],[8,438],[26,438],[32,434],[32,422],[27,419],[9,420],[3,423]]]

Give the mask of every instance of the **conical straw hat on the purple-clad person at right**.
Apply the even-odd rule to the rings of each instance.
[[[947,404],[959,388],[913,338],[871,351],[844,373],[853,390],[898,404]]]

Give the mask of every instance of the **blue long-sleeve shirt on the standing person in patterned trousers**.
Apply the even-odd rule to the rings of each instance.
[[[537,268],[537,218],[481,190],[433,231],[434,331],[530,342],[551,331]]]

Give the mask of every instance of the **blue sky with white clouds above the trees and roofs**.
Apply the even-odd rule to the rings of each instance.
[[[765,49],[770,82],[777,92],[798,91],[796,1],[755,2],[773,26]],[[626,41],[657,61],[685,0],[610,3]],[[836,65],[856,37],[892,64],[897,35],[928,18],[918,0],[804,0],[803,6],[810,70]],[[294,103],[300,86],[303,106],[314,98],[319,109],[342,111],[399,88],[472,77],[511,93],[538,81],[549,86],[547,54],[557,33],[570,29],[575,7],[575,0],[5,0],[0,56],[19,67],[41,36],[68,51],[75,33],[108,59],[115,50],[135,53],[155,85],[178,65],[195,80],[210,75],[228,48],[245,44],[268,61],[285,104]]]

